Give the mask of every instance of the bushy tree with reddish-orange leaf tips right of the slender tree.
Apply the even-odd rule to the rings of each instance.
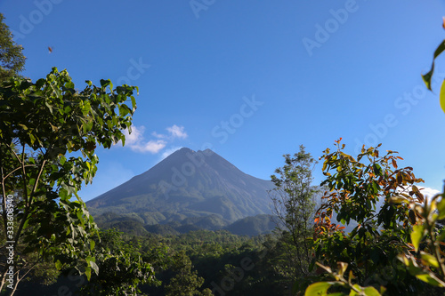
[[[423,180],[415,177],[411,167],[398,167],[401,157],[395,156],[396,152],[380,156],[380,145],[363,147],[356,160],[344,153],[340,140],[336,141],[335,152],[324,151],[323,173],[327,179],[322,184],[328,185],[330,192],[323,196],[325,202],[315,219],[314,261],[328,268],[344,262],[342,275],[353,274],[348,283],[353,279],[356,284],[374,286],[376,291],[385,286],[390,295],[416,294],[422,284],[397,258],[412,248],[410,231],[417,213],[407,204],[393,201],[403,196],[412,203],[424,202],[416,186]],[[357,223],[351,233],[344,234],[332,223],[334,212],[336,220],[344,224]]]

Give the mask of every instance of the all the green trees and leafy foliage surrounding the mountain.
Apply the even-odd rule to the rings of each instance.
[[[432,90],[434,60],[423,78]],[[425,196],[403,156],[381,144],[304,146],[271,172],[270,234],[182,234],[99,227],[80,197],[96,149],[125,145],[137,86],[67,70],[35,82],[0,14],[1,295],[443,295],[444,193]],[[439,94],[445,112],[445,86]],[[438,107],[439,108],[439,107]],[[317,156],[318,157],[318,156]],[[324,180],[313,184],[317,160]]]

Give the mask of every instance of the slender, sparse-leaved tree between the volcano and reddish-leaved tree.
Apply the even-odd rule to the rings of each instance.
[[[279,228],[284,228],[282,239],[287,242],[287,267],[293,277],[307,276],[312,259],[312,236],[315,195],[312,171],[316,164],[303,145],[294,156],[285,155],[285,165],[271,175],[275,188],[270,191],[272,212],[279,218]],[[294,264],[288,265],[293,261]],[[293,269],[293,270],[292,270]]]

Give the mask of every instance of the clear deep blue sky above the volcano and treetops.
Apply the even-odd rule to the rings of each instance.
[[[445,179],[445,115],[421,74],[445,37],[431,0],[1,0],[25,76],[67,68],[139,86],[128,145],[97,149],[89,200],[181,147],[212,148],[269,179],[303,144],[318,158],[342,137],[399,151],[428,188]],[[53,52],[48,51],[48,47]],[[436,64],[445,76],[445,60]],[[321,165],[314,172],[320,182]]]

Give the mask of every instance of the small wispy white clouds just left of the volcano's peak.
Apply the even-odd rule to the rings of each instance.
[[[151,132],[151,136],[157,138],[155,140],[146,140],[144,137],[145,127],[132,125],[132,132],[129,133],[128,130],[124,131],[125,134],[125,146],[132,149],[134,152],[157,154],[169,142],[175,139],[186,139],[188,137],[187,132],[184,131],[183,126],[178,126],[174,124],[173,126],[167,127],[166,131],[168,134],[162,134],[158,132]],[[164,153],[170,151],[171,149],[165,151]],[[173,150],[172,152],[174,152]],[[172,153],[170,152],[170,153]],[[165,157],[163,157],[165,158]]]

